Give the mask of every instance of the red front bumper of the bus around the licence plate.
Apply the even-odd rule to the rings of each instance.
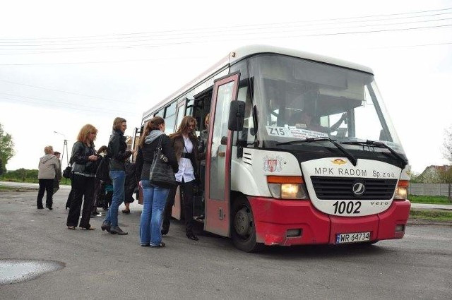
[[[268,246],[336,244],[338,234],[370,232],[370,241],[402,239],[410,214],[409,200],[394,200],[378,215],[338,217],[320,212],[310,200],[248,197],[256,241]]]

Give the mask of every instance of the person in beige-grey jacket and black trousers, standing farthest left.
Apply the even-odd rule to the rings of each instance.
[[[46,146],[44,148],[44,154],[45,155],[40,158],[40,164],[37,172],[37,178],[40,183],[40,191],[37,192],[36,204],[38,210],[44,209],[42,206],[42,198],[44,198],[45,191],[47,193],[45,207],[52,210],[54,178],[59,169],[59,160],[54,155],[54,148],[52,146]]]

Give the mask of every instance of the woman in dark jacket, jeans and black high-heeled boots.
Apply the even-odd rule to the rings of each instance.
[[[125,235],[118,226],[118,208],[124,202],[124,184],[126,181],[126,159],[135,153],[135,150],[127,150],[126,119],[117,117],[113,121],[113,132],[108,142],[107,155],[110,157],[110,178],[113,181],[113,199],[107,217],[102,223],[102,231],[107,230],[111,234]]]

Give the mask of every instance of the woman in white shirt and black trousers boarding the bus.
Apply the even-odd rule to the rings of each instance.
[[[176,180],[184,195],[185,234],[189,239],[198,241],[198,236],[193,232],[193,184],[196,178],[196,166],[198,165],[198,138],[196,138],[195,129],[196,119],[193,116],[184,116],[177,131],[169,135],[169,138],[172,140],[174,152],[176,152],[179,162]],[[175,196],[176,188],[172,188],[165,206],[162,234],[167,234],[169,231],[169,219],[171,219]]]

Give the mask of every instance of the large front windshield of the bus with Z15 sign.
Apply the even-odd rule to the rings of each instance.
[[[263,148],[275,148],[278,143],[292,140],[329,137],[338,143],[381,141],[403,153],[370,73],[262,54],[249,59],[249,77],[253,78],[258,136]],[[359,145],[343,146],[362,149]],[[290,148],[299,147],[303,146]]]

